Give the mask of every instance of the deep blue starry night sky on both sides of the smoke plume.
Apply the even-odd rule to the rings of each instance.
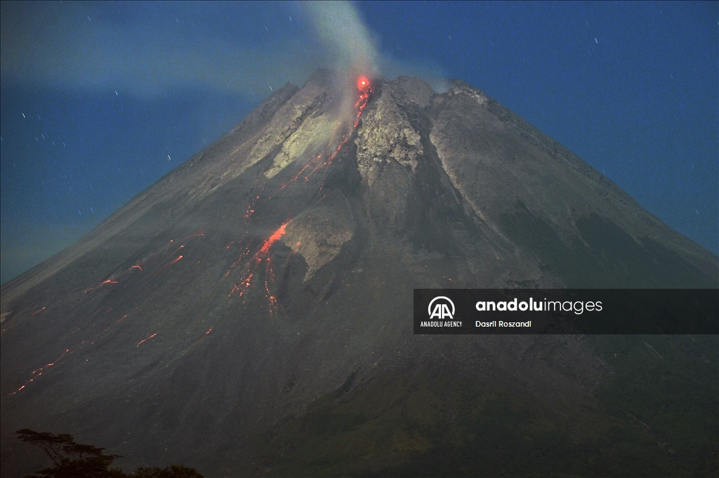
[[[719,4],[352,4],[390,78],[459,78],[719,252]],[[0,282],[336,51],[296,2],[1,3]]]

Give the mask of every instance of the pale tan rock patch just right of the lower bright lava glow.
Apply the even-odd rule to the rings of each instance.
[[[304,281],[334,259],[342,244],[352,239],[352,222],[344,210],[321,206],[310,210],[287,225],[283,242],[300,253],[308,269]]]

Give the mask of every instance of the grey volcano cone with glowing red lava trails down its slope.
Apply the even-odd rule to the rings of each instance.
[[[712,473],[716,337],[414,336],[412,298],[715,288],[716,256],[469,85],[334,85],[4,284],[2,475],[44,466],[19,428],[209,476]]]

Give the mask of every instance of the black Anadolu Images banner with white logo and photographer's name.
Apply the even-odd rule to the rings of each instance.
[[[719,334],[719,289],[414,289],[415,334]]]

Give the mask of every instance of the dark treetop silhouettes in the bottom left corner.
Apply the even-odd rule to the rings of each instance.
[[[132,474],[109,468],[120,455],[106,455],[99,446],[75,443],[70,434],[50,434],[23,428],[18,439],[41,449],[55,464],[25,478],[203,478],[196,469],[172,464],[169,467],[139,467]]]

